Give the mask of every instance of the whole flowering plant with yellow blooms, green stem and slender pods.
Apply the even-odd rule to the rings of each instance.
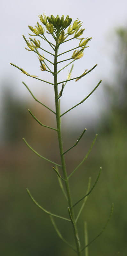
[[[91,242],[89,242],[88,244],[86,244],[86,241],[87,239],[85,240],[85,245],[83,245],[83,248],[81,248],[81,243],[80,243],[80,239],[79,239],[79,235],[78,235],[78,228],[77,228],[77,219],[79,218],[79,215],[81,213],[81,211],[83,210],[83,207],[85,205],[85,202],[86,202],[86,199],[87,197],[89,196],[89,194],[91,193],[91,191],[93,190],[93,188],[95,187],[97,181],[99,180],[99,176],[100,176],[100,173],[101,173],[101,168],[100,168],[100,171],[99,171],[99,174],[98,174],[98,177],[97,177],[97,180],[95,181],[94,185],[92,186],[92,188],[90,189],[90,181],[91,179],[89,179],[89,184],[88,184],[88,189],[87,189],[87,193],[85,196],[83,196],[77,203],[75,204],[72,204],[72,196],[71,196],[71,193],[70,193],[70,185],[69,185],[69,178],[71,177],[71,175],[74,174],[74,172],[81,166],[81,164],[83,164],[85,162],[85,160],[87,159],[87,157],[89,156],[90,152],[91,152],[91,149],[96,141],[96,138],[97,138],[97,134],[95,136],[95,139],[93,140],[92,144],[91,144],[91,147],[90,149],[88,150],[87,154],[85,155],[84,159],[81,161],[80,164],[78,164],[78,166],[74,169],[74,171],[72,171],[72,173],[68,176],[67,175],[67,168],[66,168],[66,163],[65,163],[65,153],[67,153],[69,150],[71,150],[72,148],[74,148],[78,143],[79,141],[82,139],[83,137],[83,134],[86,132],[86,128],[84,129],[84,131],[82,132],[82,134],[80,135],[79,139],[75,142],[75,144],[70,147],[69,149],[67,149],[66,151],[64,151],[63,149],[63,140],[62,140],[62,134],[61,134],[61,118],[63,115],[65,115],[68,111],[70,111],[71,109],[77,107],[79,104],[83,103],[88,97],[90,97],[90,95],[98,88],[99,84],[101,83],[101,80],[99,81],[99,83],[96,85],[96,87],[88,94],[88,96],[86,96],[80,103],[76,104],[74,107],[68,109],[65,113],[61,114],[60,113],[60,97],[62,96],[62,92],[64,90],[64,87],[65,85],[67,84],[68,81],[72,81],[72,80],[75,80],[75,82],[77,82],[79,79],[81,79],[82,77],[86,76],[89,72],[91,72],[96,66],[97,64],[91,68],[89,71],[88,69],[85,69],[85,71],[83,72],[82,75],[80,76],[77,76],[77,77],[74,77],[74,78],[71,78],[71,73],[72,73],[72,69],[73,69],[73,64],[72,64],[72,67],[70,69],[70,72],[68,73],[67,75],[67,79],[65,81],[62,81],[62,82],[58,82],[58,73],[61,72],[64,68],[66,68],[68,65],[70,65],[72,62],[74,61],[77,61],[79,60],[80,58],[83,57],[83,52],[84,52],[84,49],[87,48],[88,46],[86,46],[86,44],[88,44],[88,42],[92,39],[92,37],[88,38],[86,37],[86,39],[84,38],[78,38],[79,36],[82,36],[83,32],[84,32],[84,29],[81,28],[82,26],[82,23],[80,20],[76,19],[74,22],[73,22],[73,25],[70,25],[71,22],[72,22],[72,19],[69,18],[69,16],[67,15],[67,17],[64,19],[64,15],[62,15],[62,17],[60,18],[59,15],[57,15],[57,17],[55,18],[53,15],[51,15],[51,17],[46,17],[46,15],[39,15],[39,18],[40,18],[40,22],[45,26],[46,28],[46,32],[53,37],[55,43],[52,44],[47,38],[46,36],[44,35],[44,27],[42,27],[42,25],[39,24],[39,22],[37,22],[37,26],[35,26],[35,28],[33,28],[32,26],[28,26],[29,29],[34,33],[34,35],[31,35],[31,36],[39,36],[41,39],[43,39],[45,41],[45,43],[48,43],[49,46],[52,48],[51,50],[53,50],[53,53],[50,52],[50,51],[46,51],[44,50],[42,47],[41,47],[41,42],[39,40],[36,40],[35,38],[32,39],[32,38],[29,38],[30,39],[30,42],[25,38],[25,36],[23,35],[24,37],[24,40],[27,44],[27,47],[25,47],[26,50],[30,51],[30,52],[35,52],[38,56],[38,59],[39,59],[39,63],[41,64],[40,68],[42,71],[48,71],[52,74],[52,78],[53,78],[53,82],[49,82],[49,81],[45,81],[43,79],[40,79],[40,78],[37,78],[37,76],[33,76],[33,75],[30,75],[28,72],[26,72],[23,68],[19,68],[18,66],[10,63],[11,65],[13,65],[14,67],[20,69],[20,71],[22,71],[23,74],[27,75],[27,76],[30,76],[32,78],[35,78],[35,79],[38,79],[42,82],[45,82],[45,83],[48,83],[48,84],[51,84],[52,86],[54,86],[54,95],[55,95],[55,112],[50,109],[49,107],[47,107],[46,105],[44,105],[42,102],[40,102],[39,100],[36,99],[36,97],[32,94],[32,92],[29,90],[28,86],[23,82],[23,84],[26,86],[26,88],[28,89],[28,91],[30,92],[30,94],[32,95],[32,97],[38,102],[40,103],[41,105],[43,105],[44,107],[46,107],[47,109],[49,109],[50,111],[52,111],[53,114],[55,114],[56,116],[56,125],[57,125],[57,128],[53,128],[53,127],[50,127],[50,126],[46,126],[44,124],[42,124],[37,118],[36,116],[34,116],[34,114],[28,109],[30,115],[37,121],[37,123],[39,123],[41,126],[44,126],[46,128],[49,128],[49,129],[52,129],[52,130],[55,130],[57,132],[57,135],[58,135],[58,142],[59,142],[59,151],[60,151],[60,161],[61,161],[61,164],[58,164],[58,163],[54,163],[52,160],[49,160],[47,159],[46,157],[44,156],[41,156],[36,150],[34,150],[29,144],[28,142],[23,138],[25,144],[28,146],[28,148],[30,148],[37,156],[41,157],[43,160],[46,160],[48,162],[50,162],[51,164],[53,164],[54,166],[52,167],[53,170],[56,172],[57,174],[57,177],[58,177],[58,180],[59,180],[59,183],[60,183],[60,188],[62,189],[63,191],[63,194],[64,196],[66,197],[67,199],[67,202],[68,202],[68,207],[67,207],[67,210],[68,210],[68,217],[69,219],[65,218],[65,217],[62,217],[62,216],[59,216],[59,215],[56,215],[56,214],[52,214],[50,212],[48,212],[47,210],[45,210],[42,206],[40,206],[36,201],[35,199],[33,198],[33,196],[31,196],[29,190],[27,189],[27,192],[30,196],[30,198],[32,199],[32,201],[41,209],[43,210],[45,213],[49,214],[51,216],[51,221],[52,221],[52,224],[58,234],[58,236],[66,243],[68,244],[76,253],[77,253],[77,256],[81,256],[82,255],[82,251],[89,245],[91,244],[92,241],[94,241],[95,239],[93,239]],[[65,30],[67,28],[67,33],[65,33]],[[74,34],[75,33],[75,34]],[[74,34],[74,35],[73,35]],[[73,35],[73,36],[72,36]],[[67,39],[66,38],[68,36],[71,36],[71,38]],[[66,52],[63,52],[63,53],[60,53],[58,54],[59,52],[59,47],[61,44],[63,43],[66,43],[67,41],[69,40],[76,40],[76,42],[79,42],[77,41],[78,39],[80,39],[80,43],[78,44],[78,46],[76,46],[75,48],[73,49],[70,49]],[[43,41],[43,42],[44,42]],[[75,50],[77,48],[80,48],[79,50]],[[37,49],[41,49],[43,51],[46,52],[46,54],[50,54],[52,56],[54,56],[54,62],[51,62],[51,60],[44,57],[44,54],[40,54],[39,51]],[[68,53],[72,50],[75,50],[73,52],[73,54],[71,54],[72,56],[70,56],[70,58],[68,59],[65,59],[65,60],[61,60],[59,61],[59,56],[60,55],[63,55],[65,53]],[[73,59],[73,60],[72,60]],[[64,61],[68,61],[68,60],[72,60],[71,62],[69,62],[68,64],[66,64],[65,66],[63,66],[59,71],[58,71],[58,65],[59,63],[61,62],[64,62]],[[50,68],[48,65],[47,65],[47,61],[52,64],[52,67],[53,68]],[[49,65],[50,65],[49,64]],[[47,70],[48,69],[48,70]],[[53,69],[53,70],[52,70]],[[42,72],[42,74],[44,75],[45,72]],[[42,75],[42,77],[43,77]],[[61,91],[60,93],[58,92],[58,85],[62,83],[62,88],[61,88]],[[61,177],[60,175],[60,172],[58,171],[58,166],[62,169],[62,174],[63,174],[63,178]],[[66,188],[66,191],[64,189],[64,186],[63,186],[63,182],[65,184],[65,188]],[[84,200],[83,200],[84,199]],[[80,201],[83,200],[83,204],[82,206],[80,207],[79,209],[79,212],[78,212],[78,215],[77,217],[75,218],[75,212],[74,212],[74,206],[76,204],[78,204]],[[110,214],[110,217],[112,215],[112,211],[111,211],[111,214]],[[72,224],[72,229],[73,229],[73,234],[74,234],[74,238],[75,238],[75,248],[73,246],[71,246],[61,235],[60,231],[58,230],[58,228],[56,227],[56,224],[53,220],[53,217],[57,217],[57,218],[60,218],[60,219],[63,219],[63,220],[67,220],[69,221],[71,224]],[[106,224],[107,226],[107,224]],[[103,228],[103,230],[105,229],[105,227]],[[99,233],[98,236],[100,236],[100,234],[102,234],[103,231],[101,231]],[[86,233],[86,231],[85,231]],[[98,237],[97,236],[97,237]],[[87,252],[87,250],[86,250]],[[88,255],[88,253],[87,253]]]

